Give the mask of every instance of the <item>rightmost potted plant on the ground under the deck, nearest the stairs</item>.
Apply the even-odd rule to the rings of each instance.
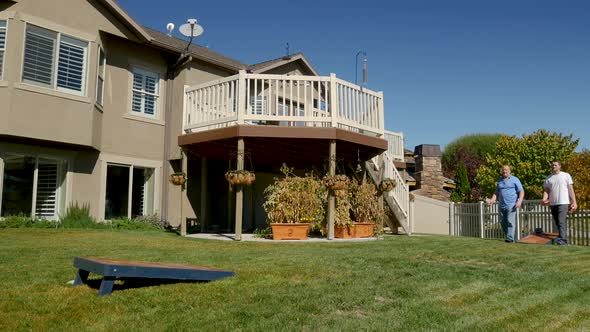
[[[379,206],[379,193],[372,183],[351,185],[351,205],[354,215],[355,237],[372,237],[375,224],[380,224],[383,211]]]

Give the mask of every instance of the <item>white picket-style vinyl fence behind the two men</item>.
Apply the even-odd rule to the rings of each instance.
[[[539,200],[525,200],[516,213],[516,240],[534,233],[557,233],[551,210]],[[567,236],[570,244],[590,246],[590,211],[577,211],[567,215]],[[498,203],[488,206],[478,203],[450,203],[449,235],[479,237],[482,239],[504,239],[504,232],[498,216]]]

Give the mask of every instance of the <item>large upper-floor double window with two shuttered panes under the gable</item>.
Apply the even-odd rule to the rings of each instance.
[[[28,24],[23,82],[84,95],[88,42]]]

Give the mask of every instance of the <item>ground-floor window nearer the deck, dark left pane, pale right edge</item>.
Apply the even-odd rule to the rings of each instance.
[[[154,169],[107,165],[105,219],[154,213]],[[131,199],[129,199],[131,198]]]

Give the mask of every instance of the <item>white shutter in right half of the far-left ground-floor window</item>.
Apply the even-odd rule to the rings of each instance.
[[[37,172],[37,218],[52,219],[57,216],[58,163],[39,160]]]

